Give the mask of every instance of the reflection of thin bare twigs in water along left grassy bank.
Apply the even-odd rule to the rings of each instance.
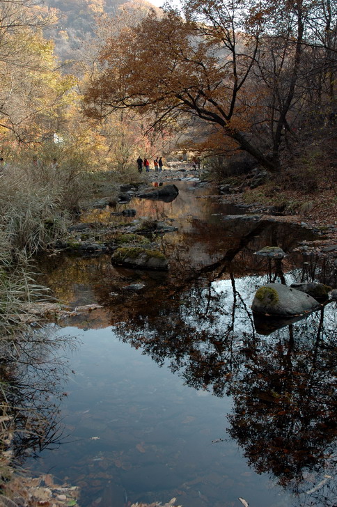
[[[0,398],[6,415],[1,438],[7,439],[15,458],[58,446],[63,430],[58,407],[68,375],[61,350],[73,344],[52,329],[39,329],[1,345]],[[8,439],[9,434],[13,437]]]

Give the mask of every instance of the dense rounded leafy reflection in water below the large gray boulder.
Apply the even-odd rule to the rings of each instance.
[[[279,331],[258,346],[248,338],[230,389],[230,435],[259,473],[272,471],[296,493],[311,489],[308,472],[319,482],[331,471],[336,451],[336,326],[324,329],[322,317],[291,325],[288,338]]]

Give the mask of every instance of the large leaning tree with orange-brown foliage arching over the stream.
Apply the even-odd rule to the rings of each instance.
[[[328,2],[189,0],[182,13],[152,12],[107,39],[86,112],[134,109],[154,113],[157,126],[198,118],[204,146],[244,150],[276,171],[299,127],[334,109],[336,8]],[[329,22],[327,40],[318,40],[314,17],[314,26]]]

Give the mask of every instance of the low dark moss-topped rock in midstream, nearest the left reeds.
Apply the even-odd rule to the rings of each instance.
[[[138,267],[143,270],[167,270],[169,267],[169,263],[162,252],[141,247],[116,249],[111,256],[111,263]]]

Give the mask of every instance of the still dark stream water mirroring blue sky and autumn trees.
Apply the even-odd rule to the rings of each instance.
[[[68,357],[64,441],[30,465],[79,485],[83,507],[173,497],[184,507],[235,507],[239,497],[251,507],[334,506],[336,304],[271,334],[250,310],[267,281],[336,286],[334,273],[315,256],[290,254],[280,266],[254,255],[266,245],[290,253],[308,231],[226,220],[242,210],[194,182],[177,185],[172,203],[127,206],[178,226],[157,238],[169,272],[116,268],[108,256],[41,264],[56,297],[102,309],[49,327],[81,343]],[[141,292],[123,290],[139,282]]]

